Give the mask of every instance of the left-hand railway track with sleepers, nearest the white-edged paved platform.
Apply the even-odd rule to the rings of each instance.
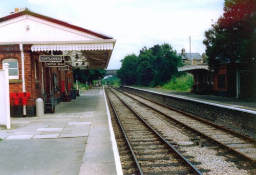
[[[150,127],[112,91],[106,89],[120,130],[135,162],[136,174],[202,174],[172,143]],[[119,138],[120,139],[120,138]],[[125,147],[125,146],[124,146]]]

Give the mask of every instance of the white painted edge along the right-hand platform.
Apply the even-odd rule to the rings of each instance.
[[[134,88],[134,87],[130,87],[130,86],[123,86],[123,87],[128,87],[128,88],[133,88],[133,89],[139,89],[139,90],[142,90],[142,91],[153,92],[153,93],[160,94],[160,95],[166,95],[166,96],[181,98],[181,99],[185,99],[185,100],[187,100],[187,101],[193,101],[193,102],[203,103],[203,104],[207,104],[207,105],[211,105],[211,106],[217,106],[217,107],[221,107],[221,108],[226,108],[226,109],[231,109],[231,110],[235,110],[235,111],[241,111],[241,112],[246,112],[246,113],[250,113],[250,114],[256,115],[256,111],[252,111],[252,110],[247,110],[247,109],[242,109],[242,108],[236,108],[236,107],[231,107],[231,106],[225,106],[225,105],[219,105],[219,104],[215,104],[215,103],[209,103],[209,102],[200,101],[200,100],[198,100],[198,99],[191,99],[191,98],[184,97],[184,96],[169,95],[169,94],[166,94],[166,93],[160,93],[160,92],[155,92],[155,91],[151,91],[151,90],[145,90],[145,89],[140,89],[140,88]]]

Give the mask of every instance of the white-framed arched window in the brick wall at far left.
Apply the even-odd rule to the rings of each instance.
[[[13,58],[4,59],[3,65],[5,63],[9,64],[9,79],[18,79],[18,60]]]

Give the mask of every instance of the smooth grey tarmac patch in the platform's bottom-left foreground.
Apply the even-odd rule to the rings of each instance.
[[[0,142],[1,175],[79,173],[87,137]]]

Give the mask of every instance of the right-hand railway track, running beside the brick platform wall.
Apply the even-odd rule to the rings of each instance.
[[[120,92],[120,90],[119,90]],[[256,159],[256,146],[255,139],[247,137],[245,135],[233,132],[229,129],[218,126],[217,124],[211,123],[204,119],[200,119],[196,116],[188,115],[187,113],[182,113],[180,110],[173,110],[169,107],[163,106],[161,104],[156,104],[148,99],[139,97],[135,94],[129,92],[124,92],[125,95],[135,99],[139,103],[151,108],[152,110],[160,113],[168,119],[172,119],[180,126],[183,126],[189,130],[200,134],[203,138],[207,138],[214,143],[217,143],[221,147],[225,148],[226,151],[231,154],[235,154],[238,158],[230,161],[239,161],[238,159],[243,159],[251,163],[250,166],[246,165],[240,168],[244,169],[254,169],[255,159]],[[228,153],[220,153],[220,155],[228,155]]]

